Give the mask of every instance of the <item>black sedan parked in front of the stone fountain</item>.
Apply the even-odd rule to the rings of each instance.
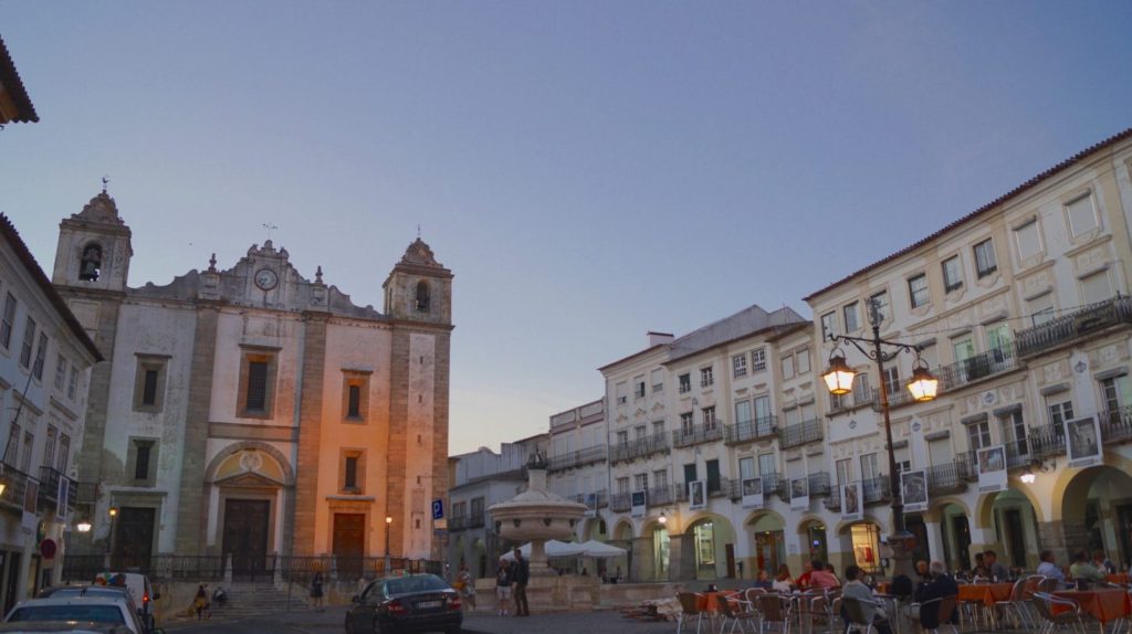
[[[346,634],[458,634],[464,620],[460,593],[435,574],[371,581],[353,602],[346,613]]]

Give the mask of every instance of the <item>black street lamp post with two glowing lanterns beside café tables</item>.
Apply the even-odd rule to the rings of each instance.
[[[904,526],[904,503],[900,490],[900,475],[897,472],[897,452],[892,446],[892,422],[889,418],[889,390],[884,381],[884,363],[892,361],[900,353],[911,353],[916,355],[916,363],[912,368],[912,377],[908,382],[908,391],[918,402],[933,400],[938,388],[938,380],[927,370],[927,365],[919,356],[919,347],[889,341],[881,338],[881,315],[876,301],[869,298],[868,322],[873,327],[873,337],[849,337],[848,335],[831,335],[834,346],[841,341],[852,344],[866,357],[876,362],[876,372],[881,379],[881,411],[884,414],[884,440],[889,446],[889,489],[892,494],[892,536],[889,538],[889,546],[893,555],[893,574],[912,575],[911,542],[914,536],[908,532]],[[895,348],[891,353],[884,351],[884,346]],[[846,363],[844,354],[840,347],[834,347],[830,354],[830,367],[822,375],[830,392],[837,396],[848,394],[852,391],[852,380],[856,372]]]

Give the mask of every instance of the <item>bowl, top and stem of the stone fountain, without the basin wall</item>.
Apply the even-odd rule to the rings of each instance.
[[[547,459],[538,451],[526,461],[526,490],[492,504],[488,511],[496,530],[513,541],[531,542],[531,576],[554,576],[547,566],[548,539],[569,539],[585,514],[585,504],[571,502],[547,490]]]

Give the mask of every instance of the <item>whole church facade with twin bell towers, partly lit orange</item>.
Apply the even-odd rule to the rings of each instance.
[[[424,242],[381,312],[269,240],[166,286],[128,286],[131,255],[105,191],[60,224],[52,283],[106,358],[78,458],[94,530],[72,553],[436,558],[453,276]]]

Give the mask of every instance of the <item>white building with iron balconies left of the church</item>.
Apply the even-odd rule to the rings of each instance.
[[[94,342],[0,215],[0,597],[7,610],[58,583],[79,495]]]

